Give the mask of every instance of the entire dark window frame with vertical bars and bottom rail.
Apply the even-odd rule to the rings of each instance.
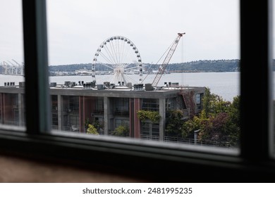
[[[239,152],[51,131],[46,0],[22,2],[26,132],[1,127],[0,153],[149,182],[274,182],[271,0],[240,0]],[[251,108],[255,90],[259,107]]]

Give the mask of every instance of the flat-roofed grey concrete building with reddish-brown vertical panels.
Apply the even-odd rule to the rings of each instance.
[[[0,123],[25,125],[25,83],[0,87]],[[115,87],[113,84],[65,82],[50,84],[52,129],[86,132],[87,124],[99,125],[99,134],[112,135],[116,127],[126,125],[129,136],[163,141],[169,110],[182,110],[189,119],[202,110],[204,87],[181,87],[166,83],[153,88],[150,84]],[[156,111],[158,123],[140,121],[139,110]]]

